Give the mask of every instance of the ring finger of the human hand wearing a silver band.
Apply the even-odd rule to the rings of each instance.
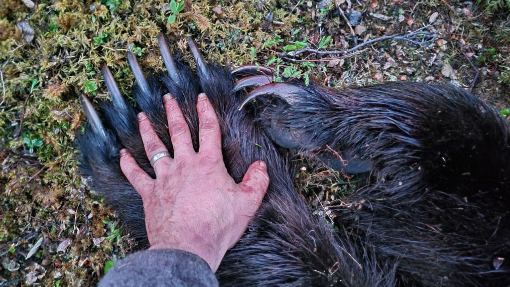
[[[152,124],[150,123],[149,119],[147,118],[147,115],[145,115],[144,112],[138,114],[138,128],[140,129],[140,135],[142,136],[145,154],[147,155],[147,158],[149,160],[151,160],[151,158],[156,154],[163,152],[168,153],[168,150],[166,149],[164,143],[161,141],[158,134],[156,134],[156,132],[154,131]],[[165,163],[169,164],[170,161],[171,157],[165,156],[156,160],[152,164],[152,167],[156,172],[156,176],[158,174],[161,174],[161,172],[165,169]]]

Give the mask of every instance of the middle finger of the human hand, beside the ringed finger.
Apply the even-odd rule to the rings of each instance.
[[[172,139],[174,158],[195,154],[193,143],[191,141],[190,129],[183,112],[177,104],[177,101],[171,94],[167,93],[163,97],[165,102],[166,117],[168,119],[168,130]]]

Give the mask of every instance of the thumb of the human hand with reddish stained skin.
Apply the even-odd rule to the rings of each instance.
[[[262,199],[266,194],[267,187],[269,186],[269,175],[267,174],[266,163],[262,160],[253,162],[244,174],[243,181],[239,183],[241,193],[240,202],[245,200],[243,210],[246,210],[245,215],[252,217],[259,209]],[[246,202],[246,200],[248,202]]]

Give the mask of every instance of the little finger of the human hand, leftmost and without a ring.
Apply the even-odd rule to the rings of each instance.
[[[153,179],[140,168],[135,158],[126,149],[120,150],[120,170],[143,200],[152,188]]]

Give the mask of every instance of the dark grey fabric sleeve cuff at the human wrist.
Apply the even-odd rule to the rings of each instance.
[[[211,268],[195,254],[174,249],[145,250],[126,256],[101,279],[107,286],[219,286]]]

